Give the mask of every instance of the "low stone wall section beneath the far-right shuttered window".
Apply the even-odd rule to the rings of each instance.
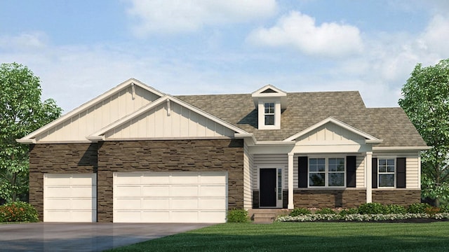
[[[420,189],[391,189],[373,190],[373,202],[381,204],[398,204],[408,207],[413,203],[421,202]]]

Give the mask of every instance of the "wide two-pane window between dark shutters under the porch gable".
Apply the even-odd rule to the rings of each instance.
[[[309,158],[309,187],[346,186],[344,158]]]

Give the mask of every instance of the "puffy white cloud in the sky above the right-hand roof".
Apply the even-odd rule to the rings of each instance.
[[[252,31],[247,41],[255,45],[296,48],[306,55],[342,57],[363,50],[360,31],[351,25],[325,22],[316,25],[314,18],[292,11],[274,27]]]

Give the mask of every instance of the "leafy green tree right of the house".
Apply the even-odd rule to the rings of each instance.
[[[422,196],[449,200],[449,59],[434,66],[417,64],[402,88],[399,106],[427,145],[422,153]]]

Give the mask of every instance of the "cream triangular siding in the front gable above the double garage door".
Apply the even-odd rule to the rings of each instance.
[[[164,102],[142,115],[106,132],[107,139],[170,137],[234,137],[234,131],[170,102]]]

